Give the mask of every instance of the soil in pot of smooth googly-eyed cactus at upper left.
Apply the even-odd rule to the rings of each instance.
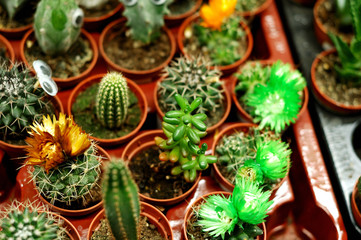
[[[90,42],[83,35],[79,36],[65,54],[59,56],[48,56],[43,53],[34,37],[26,41],[24,51],[30,65],[35,60],[43,60],[52,69],[53,77],[61,79],[80,75],[89,68],[93,59]]]

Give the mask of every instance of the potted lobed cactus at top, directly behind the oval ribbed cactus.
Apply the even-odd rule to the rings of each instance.
[[[171,61],[176,50],[174,37],[163,27],[170,0],[121,2],[126,19],[114,21],[103,30],[100,53],[110,68],[126,77],[150,81]]]

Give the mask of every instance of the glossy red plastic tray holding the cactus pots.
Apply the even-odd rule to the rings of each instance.
[[[255,32],[253,55],[261,56],[263,59],[281,59],[284,62],[293,64],[291,51],[274,2],[261,14],[260,26],[262,31]],[[172,31],[176,33],[176,29]],[[99,34],[94,33],[92,35],[98,41]],[[12,45],[18,57],[19,41],[12,41]],[[106,71],[107,67],[104,61],[99,58],[96,68],[92,70],[91,74],[105,73]],[[229,83],[230,81],[227,82],[228,91],[230,91]],[[141,84],[149,103],[149,112],[152,113],[155,112],[153,102],[154,86],[154,82]],[[69,94],[70,90],[63,90],[58,94],[63,100],[65,109]],[[221,129],[226,125],[228,123],[222,125]],[[289,179],[273,194],[273,210],[269,213],[266,222],[268,239],[347,239],[345,226],[336,203],[309,112],[306,111],[300,116],[297,123],[290,130],[293,130],[290,131],[292,134],[289,137],[294,152],[292,155],[293,166]],[[214,135],[209,135],[204,139],[208,146],[212,145],[218,131],[217,129]],[[110,155],[120,157],[123,148],[124,146],[120,146],[115,149],[107,149],[107,151]],[[3,165],[0,160],[0,173],[3,173]],[[17,180],[17,185],[9,190],[6,187],[11,185],[12,182],[2,175],[2,181],[9,182],[9,184],[5,185],[0,184],[0,193],[1,191],[4,192],[5,189],[7,201],[20,198],[20,192],[23,196],[34,196],[34,189],[29,187],[29,183],[24,179],[24,170],[20,171]],[[203,194],[219,190],[221,188],[212,177],[202,177],[197,189],[185,201],[164,209],[167,218],[170,220],[174,239],[180,239],[181,237],[183,216],[189,204]],[[0,203],[0,208],[7,201]],[[96,212],[85,218],[68,217],[67,219],[76,226],[85,239],[89,224],[95,214]]]

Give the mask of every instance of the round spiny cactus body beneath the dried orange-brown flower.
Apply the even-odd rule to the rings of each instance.
[[[31,175],[39,193],[50,203],[66,206],[77,203],[86,207],[96,200],[95,187],[99,185],[101,171],[99,158],[92,144],[84,154],[49,170],[49,173],[41,166],[34,166]]]

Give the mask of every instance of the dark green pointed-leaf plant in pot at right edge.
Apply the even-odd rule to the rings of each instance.
[[[351,17],[355,36],[350,46],[339,36],[329,32],[333,44],[336,47],[340,65],[335,65],[338,80],[351,83],[355,86],[361,85],[361,2],[350,0]],[[349,11],[349,10],[348,10]]]

